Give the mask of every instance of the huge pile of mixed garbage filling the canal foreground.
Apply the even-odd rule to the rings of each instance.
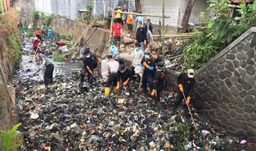
[[[106,79],[79,87],[79,72],[56,75],[50,92],[42,80],[15,77],[24,143],[21,150],[212,150],[236,139],[217,131],[191,108],[197,125],[170,113],[176,94],[164,91],[160,106],[144,94],[104,96]],[[124,89],[126,91],[126,89]]]

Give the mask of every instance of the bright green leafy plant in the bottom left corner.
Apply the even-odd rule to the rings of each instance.
[[[18,127],[21,125],[21,123],[14,125],[13,128],[10,131],[3,131],[0,130],[1,134],[0,137],[3,140],[3,143],[0,143],[0,146],[4,149],[4,150],[11,150],[11,149],[15,149],[19,146],[21,146],[21,138],[20,133],[17,133],[16,130],[18,129]]]

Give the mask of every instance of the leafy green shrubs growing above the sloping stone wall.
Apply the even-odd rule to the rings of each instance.
[[[183,54],[187,56],[186,68],[199,69],[221,50],[227,47],[248,28],[256,26],[256,1],[253,4],[239,4],[238,16],[232,18],[232,8],[226,0],[211,0],[214,3],[207,10],[214,10],[215,19],[206,21],[206,27],[195,30],[203,31],[195,36],[194,41],[186,46]],[[201,19],[205,13],[201,13]]]

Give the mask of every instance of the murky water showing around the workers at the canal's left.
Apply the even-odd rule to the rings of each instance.
[[[46,42],[46,44],[47,44],[47,47],[50,48],[49,42]],[[54,45],[52,46],[54,47]],[[21,55],[18,68],[15,71],[14,78],[15,77],[22,77],[23,79],[31,78],[31,75],[33,75],[41,65],[41,61],[34,61],[31,65],[31,62],[34,56],[34,49],[32,49],[32,39],[30,38],[29,40],[23,40],[21,42],[20,49],[23,51],[23,54]],[[53,65],[55,66],[55,69],[53,71],[53,78],[55,77],[56,74],[65,74],[70,72],[70,69],[72,68],[81,68],[83,66],[82,61],[55,62],[53,61],[53,58],[54,58],[54,55],[48,56],[48,59],[50,59]],[[37,59],[39,59],[38,56],[37,56]],[[29,68],[30,65],[31,67]],[[33,77],[33,80],[42,80],[44,71],[45,71],[45,68],[39,71]]]

